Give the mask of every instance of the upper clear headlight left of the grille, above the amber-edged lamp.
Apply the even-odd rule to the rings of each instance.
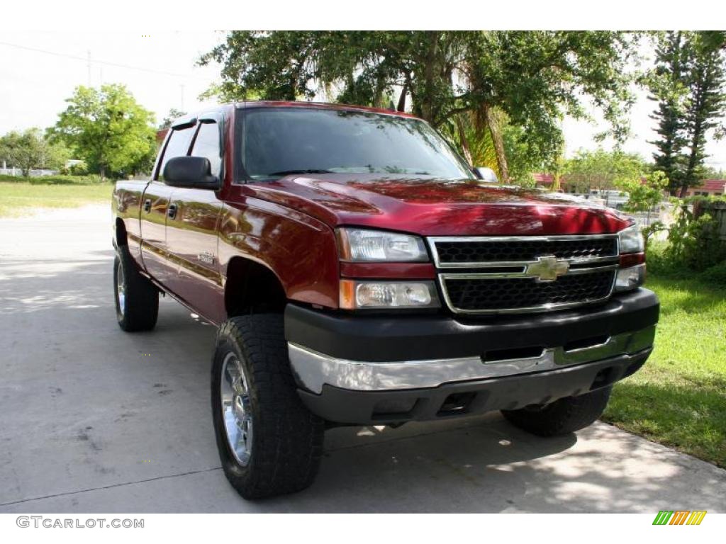
[[[364,228],[338,229],[338,251],[342,260],[354,262],[410,263],[428,260],[423,239],[418,236]]]

